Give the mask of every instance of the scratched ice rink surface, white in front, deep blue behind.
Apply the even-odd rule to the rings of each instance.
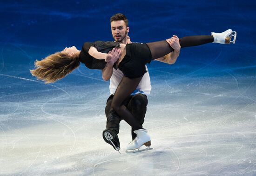
[[[92,32],[90,41],[102,36],[111,40],[108,18],[116,11],[100,2],[91,5],[98,10],[65,0],[63,6],[1,5],[5,9],[1,15],[8,18],[1,18],[6,25],[0,36],[0,176],[255,176],[256,17],[251,15],[255,3],[227,3],[232,13],[225,2],[209,1],[147,1],[141,2],[143,9],[126,8],[134,41],[154,41],[159,33],[166,36],[174,31],[180,36],[206,33],[209,28],[223,31],[225,26],[236,28],[238,37],[235,45],[182,49],[174,65],[152,61],[144,128],[154,150],[127,154],[130,127],[122,121],[120,155],[102,139],[109,82],[102,80],[101,71],[81,65],[47,85],[29,74],[35,59],[64,45],[81,46],[85,37],[72,36],[74,28],[67,24],[79,24],[75,29],[80,36]],[[114,7],[124,5],[118,2]],[[143,15],[138,15],[141,11]],[[100,19],[102,13],[106,24]],[[82,21],[97,27],[88,29]],[[166,25],[170,21],[175,22],[170,23],[172,29]],[[109,31],[104,33],[104,26]],[[145,26],[150,30],[145,31]]]

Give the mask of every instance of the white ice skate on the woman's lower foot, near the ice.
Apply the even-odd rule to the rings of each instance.
[[[150,141],[150,136],[148,134],[147,130],[143,130],[143,129],[139,129],[139,130],[135,130],[134,131],[137,134],[137,137],[130,142],[127,147],[126,147],[126,152],[127,153],[134,153],[134,152],[138,152],[138,151],[146,151],[146,150],[151,150],[152,148],[150,148],[151,145],[151,141]],[[139,148],[145,145],[146,149],[143,150],[139,150]]]

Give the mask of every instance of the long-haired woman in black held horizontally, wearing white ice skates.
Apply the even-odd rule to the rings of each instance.
[[[212,32],[211,34],[180,38],[181,48],[207,43],[234,44],[236,40],[236,32],[231,29],[222,33]],[[231,41],[232,37],[234,37],[233,41]],[[46,83],[55,82],[76,69],[80,62],[84,63],[89,69],[104,69],[106,62],[113,62],[108,52],[112,49],[112,53],[120,54],[121,52],[114,66],[115,68],[119,68],[124,76],[115,91],[112,107],[122,119],[135,129],[134,132],[137,134],[137,137],[128,144],[127,150],[138,149],[142,145],[146,145],[149,148],[151,141],[147,130],[142,128],[122,102],[138,86],[142,76],[146,72],[146,63],[150,63],[151,60],[163,57],[174,51],[169,45],[172,39],[145,44],[131,43],[127,45],[112,41],[86,42],[81,51],[73,46],[65,48],[61,52],[56,52],[41,61],[36,61],[35,66],[37,68],[30,70],[30,72]],[[105,138],[111,142],[112,137],[109,133],[105,133]]]

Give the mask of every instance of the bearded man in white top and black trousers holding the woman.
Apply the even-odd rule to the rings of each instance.
[[[110,25],[112,36],[116,42],[120,42],[122,44],[131,43],[130,38],[128,37],[129,26],[128,19],[122,13],[116,13],[110,18]],[[174,48],[178,48],[174,52],[168,54],[165,57],[156,59],[158,61],[164,63],[175,63],[177,57],[179,56],[180,47],[179,47],[179,39],[175,36]],[[148,68],[146,66],[146,70]],[[115,90],[121,79],[123,77],[123,73],[119,69],[113,68],[113,65],[109,64],[102,70],[102,78],[107,81],[110,79],[110,93],[111,95],[108,97],[107,106],[105,108],[105,113],[107,117],[107,129],[103,131],[103,139],[110,145],[114,147],[115,150],[120,150],[120,143],[117,134],[119,133],[119,124],[122,118],[114,111],[111,107],[111,102],[115,94]],[[135,116],[135,118],[142,125],[144,123],[145,114],[147,111],[148,98],[147,95],[150,93],[151,85],[150,85],[150,77],[148,72],[145,73],[139,83],[138,87],[135,91],[123,102],[123,104],[128,108],[128,110]],[[134,133],[134,129],[131,129],[132,139],[135,140],[136,134]]]

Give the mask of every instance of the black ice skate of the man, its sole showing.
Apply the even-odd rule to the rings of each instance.
[[[110,130],[104,130],[102,132],[102,137],[106,143],[112,145],[113,148],[120,153],[120,142],[117,134],[111,132]]]

